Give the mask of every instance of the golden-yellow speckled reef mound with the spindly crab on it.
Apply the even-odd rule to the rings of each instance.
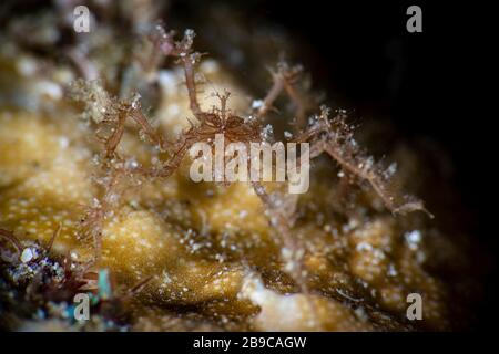
[[[102,23],[100,31],[112,39],[119,31],[113,25]],[[45,71],[6,37],[0,90],[35,104],[0,101],[2,326],[399,331],[462,325],[466,315],[452,312],[451,303],[469,283],[460,242],[435,227],[420,200],[393,188],[410,184],[404,170],[422,168],[415,153],[400,147],[393,154],[398,166],[376,163],[358,147],[342,110],[320,108],[312,94],[301,92],[297,67],[281,62],[274,85],[252,110],[251,90],[222,61],[191,49],[192,31],[180,42],[155,24],[147,33],[143,38],[152,46],[136,41],[151,50],[149,66],[144,59],[124,56],[133,43],[101,43],[89,34],[86,67],[54,62]],[[114,56],[95,54],[112,45]],[[129,80],[120,85],[110,75],[125,58]],[[85,77],[89,72],[102,74]],[[16,87],[9,87],[12,77]],[[195,88],[201,81],[203,93]],[[189,144],[211,137],[210,129],[243,143],[272,139],[261,137],[262,123],[268,114],[288,116],[285,107],[272,112],[281,93],[291,97],[291,117],[297,118],[286,136],[312,146],[309,191],[292,196],[278,184],[192,181]],[[146,105],[155,111],[147,113]],[[251,116],[256,121],[244,121]],[[220,125],[227,122],[233,125]],[[413,212],[418,210],[426,214]],[[444,250],[436,252],[438,246]],[[456,270],[445,273],[461,274],[461,283],[439,274],[449,254]],[[88,322],[71,314],[81,292],[93,299]],[[406,316],[410,293],[424,300],[421,321]],[[19,309],[22,303],[30,305]]]

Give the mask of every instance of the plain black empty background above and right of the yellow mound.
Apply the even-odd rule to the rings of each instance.
[[[304,53],[307,70],[339,105],[355,108],[357,116],[389,119],[406,138],[436,142],[452,160],[456,173],[450,183],[466,206],[467,231],[497,258],[497,114],[490,104],[497,91],[491,85],[491,48],[497,38],[489,2],[215,2],[230,3],[253,22],[279,24],[296,43],[310,48],[314,55]],[[174,1],[170,10],[181,13],[194,7],[203,13],[212,4]],[[422,33],[406,30],[411,4],[422,9]],[[439,190],[431,192],[438,198]],[[461,217],[455,215],[461,225]],[[492,266],[486,301],[478,310],[480,330],[490,330],[496,319],[496,279]]]

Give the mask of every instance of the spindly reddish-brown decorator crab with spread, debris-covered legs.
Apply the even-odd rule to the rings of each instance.
[[[129,100],[119,101],[110,96],[95,82],[80,80],[73,85],[73,97],[86,104],[84,115],[94,122],[98,126],[98,133],[104,126],[111,126],[112,132],[109,136],[101,137],[104,146],[102,166],[103,168],[108,168],[105,194],[95,206],[89,208],[83,220],[83,235],[93,237],[95,241],[95,259],[99,259],[100,254],[103,220],[113,208],[120,205],[122,199],[120,198],[122,191],[120,191],[120,184],[118,183],[121,177],[167,178],[179,168],[185,154],[194,144],[205,143],[210,146],[215,144],[216,152],[216,135],[223,135],[224,139],[228,143],[240,144],[235,146],[246,146],[246,149],[248,145],[251,146],[251,143],[271,143],[267,140],[268,134],[265,134],[268,128],[263,127],[263,118],[272,110],[274,101],[283,91],[288,94],[297,107],[297,124],[304,121],[303,106],[305,98],[299,96],[294,85],[302,71],[299,66],[289,66],[285,62],[278,63],[277,70],[273,73],[274,85],[251,117],[240,117],[227,110],[230,92],[225,92],[223,95],[216,94],[220,98],[220,107],[213,107],[210,112],[204,112],[197,101],[195,65],[200,61],[201,54],[194,52],[192,49],[194,31],[186,30],[183,39],[175,42],[173,32],[167,33],[162,27],[157,25],[151,39],[159,53],[162,53],[166,58],[174,58],[182,64],[190,108],[196,122],[190,121],[190,128],[183,132],[175,142],[169,142],[149,123],[149,119],[141,111],[140,96],[134,95]],[[154,55],[156,54],[154,52]],[[385,169],[380,164],[376,164],[371,156],[364,154],[353,138],[353,129],[345,122],[345,114],[340,112],[334,118],[330,118],[329,115],[329,110],[323,106],[320,114],[313,116],[307,126],[295,126],[296,137],[293,139],[293,143],[309,144],[309,149],[304,149],[304,163],[307,164],[308,155],[310,158],[314,158],[325,152],[343,169],[357,176],[359,180],[365,180],[370,184],[391,212],[405,215],[416,210],[426,211],[420,200],[411,196],[398,195],[390,189],[393,168],[388,167]],[[165,160],[157,160],[151,168],[145,168],[136,165],[130,166],[126,164],[126,158],[118,156],[116,147],[123,136],[125,123],[129,119],[134,121],[139,125],[140,135],[143,139],[147,139],[154,144],[157,150],[164,152],[169,156]],[[206,156],[210,156],[210,154]],[[243,157],[240,156],[238,160]],[[301,157],[299,160],[302,160]],[[244,168],[248,164],[243,160],[242,165]],[[265,169],[268,173],[269,168]],[[282,170],[282,167],[279,169]],[[252,169],[249,176],[255,176],[255,170],[256,168]],[[207,169],[207,171],[210,170]],[[223,168],[215,168],[213,173],[215,175],[213,179],[215,181],[220,180],[221,176],[217,176],[217,174],[222,174]],[[238,174],[243,174],[242,169],[238,170]],[[279,197],[272,198],[261,180],[253,180],[253,177],[251,179],[255,194],[262,199],[267,209],[271,225],[278,230],[277,235],[282,237],[283,243],[285,244],[282,254],[283,261],[286,264],[285,270],[295,279],[302,289],[306,289],[306,272],[302,267],[303,252],[299,246],[296,244],[296,239],[291,231],[289,221],[282,210],[283,201],[279,201]],[[291,181],[296,183],[295,180]]]

